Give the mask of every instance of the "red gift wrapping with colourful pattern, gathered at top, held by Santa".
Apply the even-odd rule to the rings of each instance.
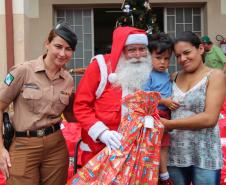
[[[156,185],[163,125],[159,121],[158,92],[137,91],[123,100],[129,113],[118,131],[122,146],[109,154],[105,147],[69,181],[68,185]],[[144,127],[145,117],[153,118],[153,128]]]

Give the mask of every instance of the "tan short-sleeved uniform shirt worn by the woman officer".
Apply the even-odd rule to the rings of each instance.
[[[37,130],[61,120],[69,103],[73,78],[61,69],[51,80],[43,56],[14,66],[0,88],[0,100],[14,104],[16,131]]]

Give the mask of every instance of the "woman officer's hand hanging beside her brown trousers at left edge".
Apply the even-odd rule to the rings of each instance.
[[[0,151],[0,169],[5,176],[5,179],[9,178],[8,167],[11,167],[9,152],[5,149],[5,147],[2,147]]]

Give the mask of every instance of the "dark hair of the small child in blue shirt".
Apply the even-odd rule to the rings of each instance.
[[[166,33],[154,33],[148,36],[148,49],[152,53],[156,51],[158,54],[168,50],[170,53],[173,48],[173,40]]]

